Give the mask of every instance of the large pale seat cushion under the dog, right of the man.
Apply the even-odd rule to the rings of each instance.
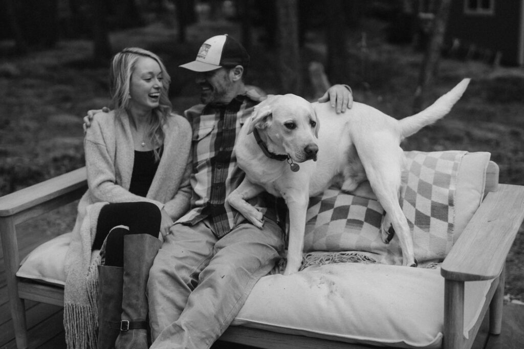
[[[465,330],[491,281],[466,283]],[[440,269],[341,263],[261,278],[233,324],[389,347],[442,344]]]

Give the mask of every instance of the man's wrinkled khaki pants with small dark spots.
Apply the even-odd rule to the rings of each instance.
[[[151,348],[209,348],[283,246],[280,227],[240,224],[217,239],[206,221],[176,224],[149,273]]]

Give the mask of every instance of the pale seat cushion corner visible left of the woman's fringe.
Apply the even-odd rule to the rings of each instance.
[[[41,244],[20,263],[16,276],[65,285],[65,254],[69,249],[71,234],[65,233]],[[93,250],[92,254],[99,253]]]

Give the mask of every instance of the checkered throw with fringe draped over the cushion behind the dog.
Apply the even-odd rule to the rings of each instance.
[[[415,256],[419,264],[427,265],[441,261],[453,245],[456,178],[466,152],[405,154],[400,205],[413,234]],[[367,261],[401,265],[398,238],[389,244],[381,240],[384,215],[375,200],[328,189],[310,199],[304,252],[352,252]]]

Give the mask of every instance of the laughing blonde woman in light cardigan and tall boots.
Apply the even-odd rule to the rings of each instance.
[[[64,327],[68,347],[147,348],[149,268],[159,233],[189,208],[192,133],[171,113],[156,54],[124,49],[110,78],[114,110],[84,140],[89,190],[66,257]]]

